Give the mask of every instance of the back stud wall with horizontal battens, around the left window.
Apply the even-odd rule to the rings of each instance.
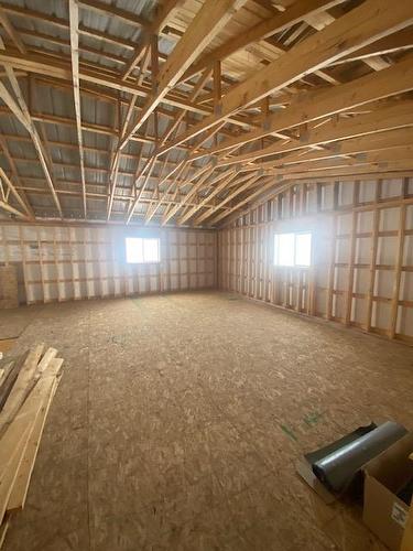
[[[161,239],[161,262],[128,264],[124,237]],[[216,287],[216,234],[0,224],[0,264],[14,264],[20,303],[36,304]]]

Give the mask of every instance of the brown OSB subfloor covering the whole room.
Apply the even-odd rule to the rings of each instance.
[[[65,372],[7,551],[382,549],[295,462],[411,426],[411,348],[218,292],[36,307],[11,352],[40,341]]]

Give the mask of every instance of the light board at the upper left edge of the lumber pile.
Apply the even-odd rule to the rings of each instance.
[[[4,407],[0,412],[0,434],[2,433],[4,425],[14,418],[14,415],[19,411],[20,406],[23,403],[25,397],[30,392],[34,383],[34,374],[37,368],[39,360],[42,357],[43,350],[44,344],[42,343],[32,348],[28,357],[25,358],[25,361],[15,379],[13,388],[11,389]]]

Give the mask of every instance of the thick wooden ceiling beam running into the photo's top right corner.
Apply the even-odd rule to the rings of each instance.
[[[219,120],[225,120],[237,110],[287,86],[303,75],[326,67],[329,63],[412,23],[413,4],[409,0],[401,0],[394,6],[388,0],[366,0],[360,7],[308,36],[279,60],[231,88],[222,98],[220,115],[206,117],[175,142],[163,148],[161,153],[198,136]]]

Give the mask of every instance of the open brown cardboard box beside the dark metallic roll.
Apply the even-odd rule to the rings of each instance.
[[[392,551],[399,551],[409,505],[398,497],[413,477],[413,433],[371,460],[365,471],[363,521]]]

